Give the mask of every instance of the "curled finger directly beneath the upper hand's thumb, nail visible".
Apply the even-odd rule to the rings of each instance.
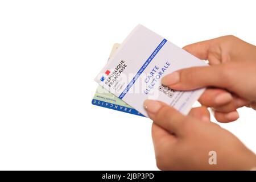
[[[201,105],[217,107],[233,101],[233,96],[224,89],[207,88],[199,98]]]

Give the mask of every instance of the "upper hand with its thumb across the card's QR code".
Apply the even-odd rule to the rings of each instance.
[[[239,117],[238,107],[256,109],[255,46],[234,36],[223,36],[184,49],[199,59],[209,60],[211,66],[176,71],[163,77],[164,85],[176,90],[208,86],[199,102],[212,107],[219,122],[235,121]]]

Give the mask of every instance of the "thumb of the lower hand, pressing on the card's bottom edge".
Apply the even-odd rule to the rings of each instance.
[[[163,129],[179,134],[179,127],[185,116],[171,106],[160,101],[146,100],[144,108],[154,123]]]

